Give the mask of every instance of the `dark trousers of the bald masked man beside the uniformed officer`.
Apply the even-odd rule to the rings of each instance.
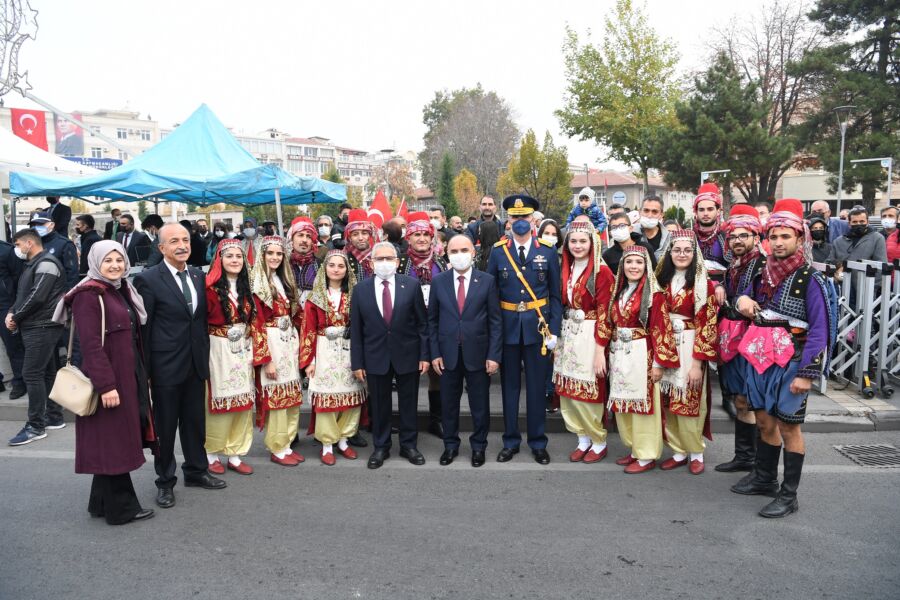
[[[469,410],[472,413],[472,435],[469,444],[472,450],[487,448],[487,433],[490,426],[489,389],[491,378],[484,369],[467,371],[463,362],[462,347],[455,369],[444,369],[441,374],[441,421],[444,426],[444,448],[459,449],[459,401],[462,398],[463,380],[469,388]]]

